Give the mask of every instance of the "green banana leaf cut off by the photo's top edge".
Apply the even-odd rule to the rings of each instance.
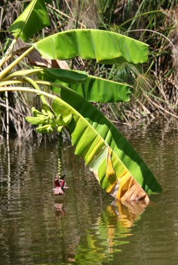
[[[32,0],[24,12],[11,24],[13,36],[27,41],[36,32],[49,26],[49,15],[44,0]]]

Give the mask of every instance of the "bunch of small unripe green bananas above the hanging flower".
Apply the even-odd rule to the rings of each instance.
[[[59,114],[56,116],[47,105],[43,105],[42,112],[35,109],[35,107],[31,108],[31,112],[33,116],[26,116],[25,119],[29,123],[38,126],[36,131],[40,133],[52,133],[54,130],[62,132],[63,128],[72,120],[72,114],[67,116]]]

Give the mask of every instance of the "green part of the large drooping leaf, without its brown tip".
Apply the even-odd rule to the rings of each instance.
[[[125,172],[130,172],[146,192],[161,190],[143,159],[102,112],[70,89],[62,88],[60,96],[61,99],[56,97],[53,101],[52,109],[57,116],[72,114],[72,121],[67,128],[72,144],[76,147],[75,153],[84,158],[106,192],[111,191]],[[108,148],[112,152],[111,160],[115,171],[115,176],[109,178],[106,177]]]

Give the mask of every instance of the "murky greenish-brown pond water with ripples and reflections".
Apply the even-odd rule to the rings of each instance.
[[[121,130],[162,185],[147,207],[113,202],[67,146],[70,188],[55,197],[56,143],[0,145],[0,264],[177,264],[177,124]]]

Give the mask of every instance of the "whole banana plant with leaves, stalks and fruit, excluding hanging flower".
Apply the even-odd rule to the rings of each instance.
[[[161,186],[127,139],[90,103],[127,102],[131,96],[129,84],[70,69],[38,67],[13,71],[25,56],[31,56],[33,52],[51,61],[81,56],[81,59],[94,59],[97,63],[144,63],[148,58],[148,46],[110,31],[73,29],[31,43],[6,68],[3,67],[19,38],[27,41],[33,33],[49,24],[46,2],[32,0],[11,25],[9,30],[15,39],[1,59],[0,91],[38,93],[42,110],[32,107],[33,116],[26,117],[26,121],[37,126],[36,130],[41,133],[54,130],[60,133],[67,128],[76,155],[84,158],[102,188],[113,197],[122,201],[149,200],[147,193],[158,192]],[[33,89],[23,84],[29,84]],[[42,91],[44,86],[58,96]],[[52,98],[51,105],[46,97]]]

